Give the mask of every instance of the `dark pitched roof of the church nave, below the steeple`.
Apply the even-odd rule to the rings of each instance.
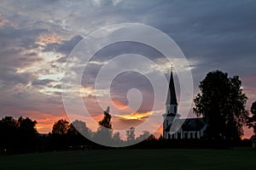
[[[204,118],[176,119],[165,131],[170,132],[171,127],[180,127],[183,131],[198,131],[206,125]]]

